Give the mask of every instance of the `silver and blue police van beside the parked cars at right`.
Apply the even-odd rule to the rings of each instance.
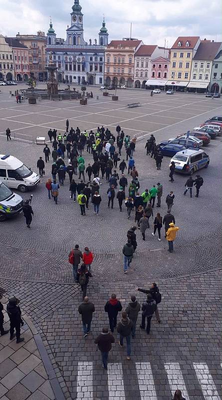
[[[186,148],[178,151],[171,162],[175,162],[175,172],[193,175],[198,169],[207,168],[210,162],[209,155],[200,148]]]

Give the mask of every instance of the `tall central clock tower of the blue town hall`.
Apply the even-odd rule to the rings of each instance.
[[[83,13],[79,0],[72,6],[71,25],[66,29],[66,44],[87,44],[83,38]]]

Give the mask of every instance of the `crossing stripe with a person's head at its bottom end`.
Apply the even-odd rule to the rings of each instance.
[[[174,396],[174,393],[177,389],[180,389],[182,391],[183,397],[185,397],[187,400],[189,400],[186,384],[185,384],[185,381],[184,381],[184,378],[183,378],[183,375],[181,372],[179,362],[175,362],[175,363],[166,362],[164,364],[164,367],[167,372],[172,396]]]

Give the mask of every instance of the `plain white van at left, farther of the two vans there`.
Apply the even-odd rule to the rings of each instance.
[[[0,180],[8,187],[22,192],[36,187],[40,178],[13,155],[0,154]]]

